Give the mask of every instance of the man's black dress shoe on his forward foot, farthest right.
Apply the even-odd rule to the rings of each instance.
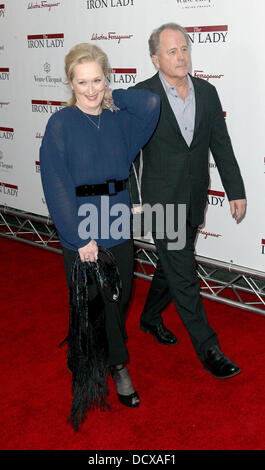
[[[228,379],[240,372],[239,367],[226,357],[218,346],[209,348],[206,352],[206,358],[202,362],[205,369],[217,379]]]

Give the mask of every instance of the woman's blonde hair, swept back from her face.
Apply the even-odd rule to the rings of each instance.
[[[97,62],[102,67],[102,71],[107,77],[109,73],[109,61],[105,52],[100,47],[89,44],[81,43],[74,46],[65,56],[65,74],[67,82],[70,85],[74,78],[74,68],[77,64],[85,62]],[[71,100],[67,103],[68,106],[73,106],[76,103],[75,94],[72,94]]]

